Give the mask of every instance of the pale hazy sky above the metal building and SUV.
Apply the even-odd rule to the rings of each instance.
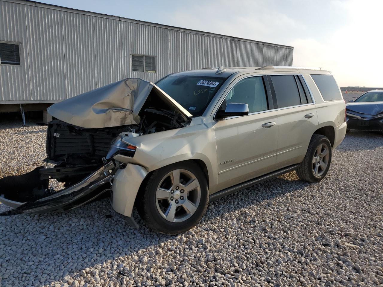
[[[293,65],[339,86],[383,87],[380,0],[40,0],[80,10],[294,47]]]

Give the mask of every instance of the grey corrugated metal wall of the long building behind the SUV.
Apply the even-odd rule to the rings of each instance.
[[[20,43],[21,65],[0,65],[0,104],[59,101],[123,78],[155,82],[203,67],[290,66],[292,47],[0,0],[0,41]],[[156,56],[156,73],[131,71]]]

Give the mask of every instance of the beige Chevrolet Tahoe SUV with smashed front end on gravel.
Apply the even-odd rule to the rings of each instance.
[[[206,68],[156,84],[128,78],[48,112],[53,165],[0,179],[0,201],[14,207],[1,215],[70,210],[110,194],[131,225],[136,207],[167,234],[196,225],[209,200],[280,174],[320,181],[346,132],[331,73],[291,67]]]

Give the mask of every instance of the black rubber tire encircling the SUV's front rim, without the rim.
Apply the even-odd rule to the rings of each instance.
[[[168,220],[164,219],[164,217],[162,217],[162,215],[157,209],[157,204],[155,200],[155,193],[162,178],[170,171],[176,169],[188,170],[191,173],[193,173],[198,179],[201,188],[200,204],[198,205],[197,210],[194,212],[193,215],[191,215],[190,218],[183,222],[169,222]],[[148,185],[145,191],[147,192],[145,196],[147,200],[143,204],[145,205],[144,209],[146,209],[147,217],[149,220],[151,220],[151,223],[152,225],[154,225],[153,227],[155,228],[155,230],[168,234],[180,233],[190,229],[201,220],[201,217],[205,213],[208,204],[209,194],[205,174],[201,171],[198,165],[193,165],[191,163],[185,162],[166,166],[158,170],[158,173],[155,175],[155,177],[152,178],[147,184]]]

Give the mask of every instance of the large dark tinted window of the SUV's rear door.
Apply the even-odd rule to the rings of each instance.
[[[271,76],[277,97],[278,108],[298,106],[301,104],[298,87],[293,75]]]

